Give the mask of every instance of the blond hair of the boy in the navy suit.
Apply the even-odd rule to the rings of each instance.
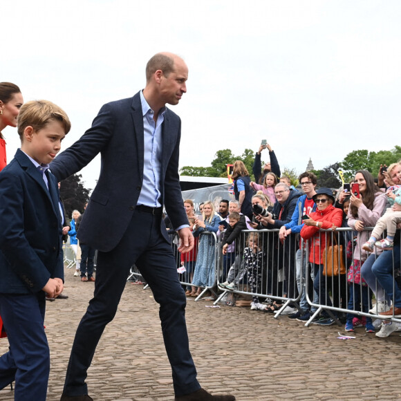
[[[24,138],[24,130],[29,126],[39,131],[49,122],[58,121],[66,134],[71,129],[71,122],[65,111],[48,100],[31,100],[23,104],[17,121],[18,135],[21,140]]]

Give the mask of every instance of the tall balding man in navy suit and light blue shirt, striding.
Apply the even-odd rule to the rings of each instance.
[[[129,99],[105,104],[92,127],[51,165],[62,180],[97,153],[102,165],[78,232],[98,250],[95,294],[77,328],[62,401],[89,401],[85,383],[97,342],[111,321],[133,263],[160,304],[162,333],[173,372],[175,400],[232,401],[201,389],[189,352],[185,292],[162,223],[165,205],[180,236],[180,252],[194,246],[178,176],[181,122],[165,107],[187,91],[188,68],[180,57],[158,53],[147,63],[147,84]]]

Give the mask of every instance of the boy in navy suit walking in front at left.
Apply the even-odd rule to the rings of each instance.
[[[64,282],[59,191],[48,163],[70,128],[55,104],[24,104],[21,149],[0,173],[0,315],[10,342],[0,357],[0,389],[15,380],[16,401],[46,400],[46,297],[57,297]]]

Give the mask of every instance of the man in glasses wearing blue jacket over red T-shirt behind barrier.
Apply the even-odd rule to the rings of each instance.
[[[301,232],[301,228],[304,227],[302,216],[309,216],[310,213],[315,212],[316,209],[313,196],[316,194],[315,188],[317,185],[317,176],[315,176],[313,173],[310,173],[310,171],[305,171],[298,177],[298,179],[299,183],[301,183],[301,188],[304,191],[304,195],[298,198],[297,207],[295,207],[290,223],[286,223],[281,227],[279,232],[280,241],[285,241],[287,236],[290,234],[298,234]],[[302,258],[302,252],[304,252],[304,258]],[[306,250],[304,247],[304,242],[300,241],[299,250],[297,250],[295,257],[298,292],[301,292],[304,287],[304,283],[302,283],[302,277],[305,277],[306,262]],[[313,275],[313,272],[311,274]],[[312,279],[314,278],[315,277],[312,277]],[[319,301],[319,295],[314,293],[314,297],[317,303]],[[289,316],[289,318],[299,319],[300,321],[308,321],[310,317],[310,311],[308,301],[306,300],[305,291],[302,291],[301,299],[299,300],[299,307],[301,310],[296,310],[292,315]]]

